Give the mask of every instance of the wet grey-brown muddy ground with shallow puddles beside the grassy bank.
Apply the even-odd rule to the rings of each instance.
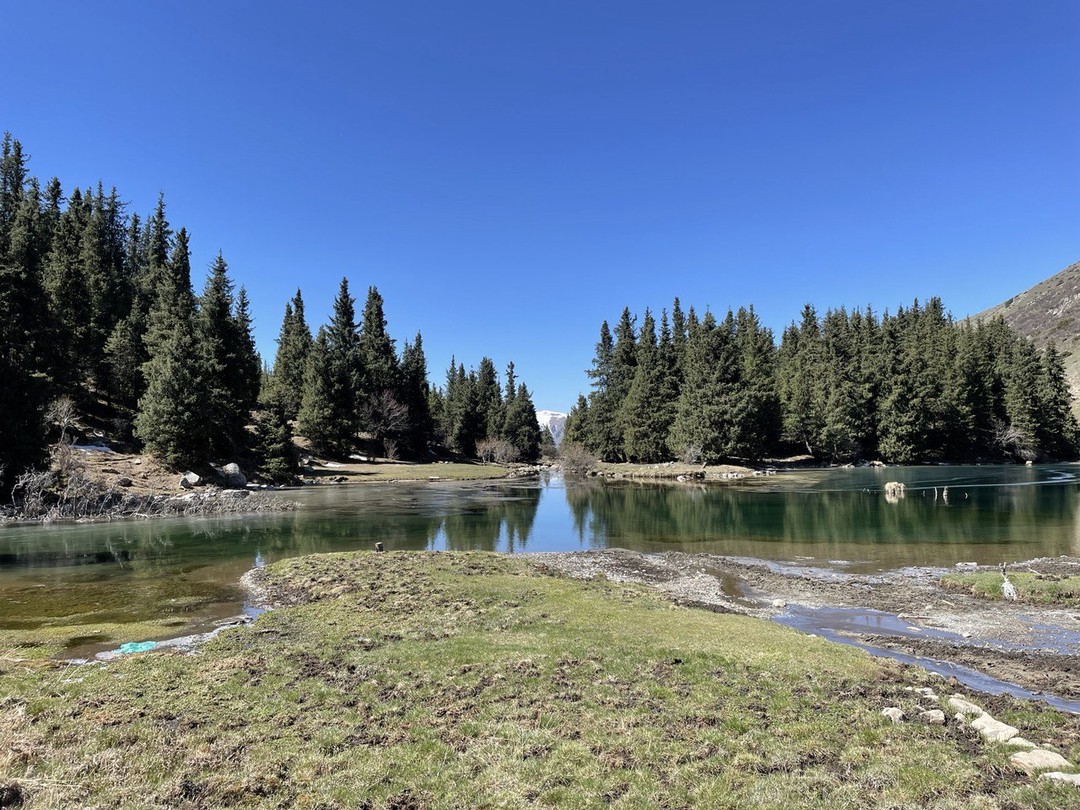
[[[841,625],[832,627],[862,644],[949,661],[1032,692],[1080,700],[1080,607],[996,602],[946,590],[940,579],[955,569],[865,575],[846,572],[842,564],[826,568],[621,549],[534,556],[566,576],[639,582],[680,604],[780,621],[796,613],[799,626],[811,632],[814,621],[824,627],[841,617]],[[1078,576],[1080,558],[1032,559],[1010,570]]]

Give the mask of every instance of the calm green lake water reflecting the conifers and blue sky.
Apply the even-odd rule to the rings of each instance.
[[[745,486],[565,482],[324,487],[295,513],[0,528],[0,627],[239,613],[253,566],[370,549],[707,551],[847,570],[1080,555],[1080,467],[781,473]],[[888,501],[886,482],[907,485]],[[947,492],[946,492],[947,487]],[[185,630],[190,632],[190,630]],[[178,633],[179,634],[179,633]]]

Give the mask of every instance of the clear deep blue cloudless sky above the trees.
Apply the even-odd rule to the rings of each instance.
[[[1080,259],[1076,0],[0,0],[0,130],[247,286],[588,390],[623,306],[959,315]]]

